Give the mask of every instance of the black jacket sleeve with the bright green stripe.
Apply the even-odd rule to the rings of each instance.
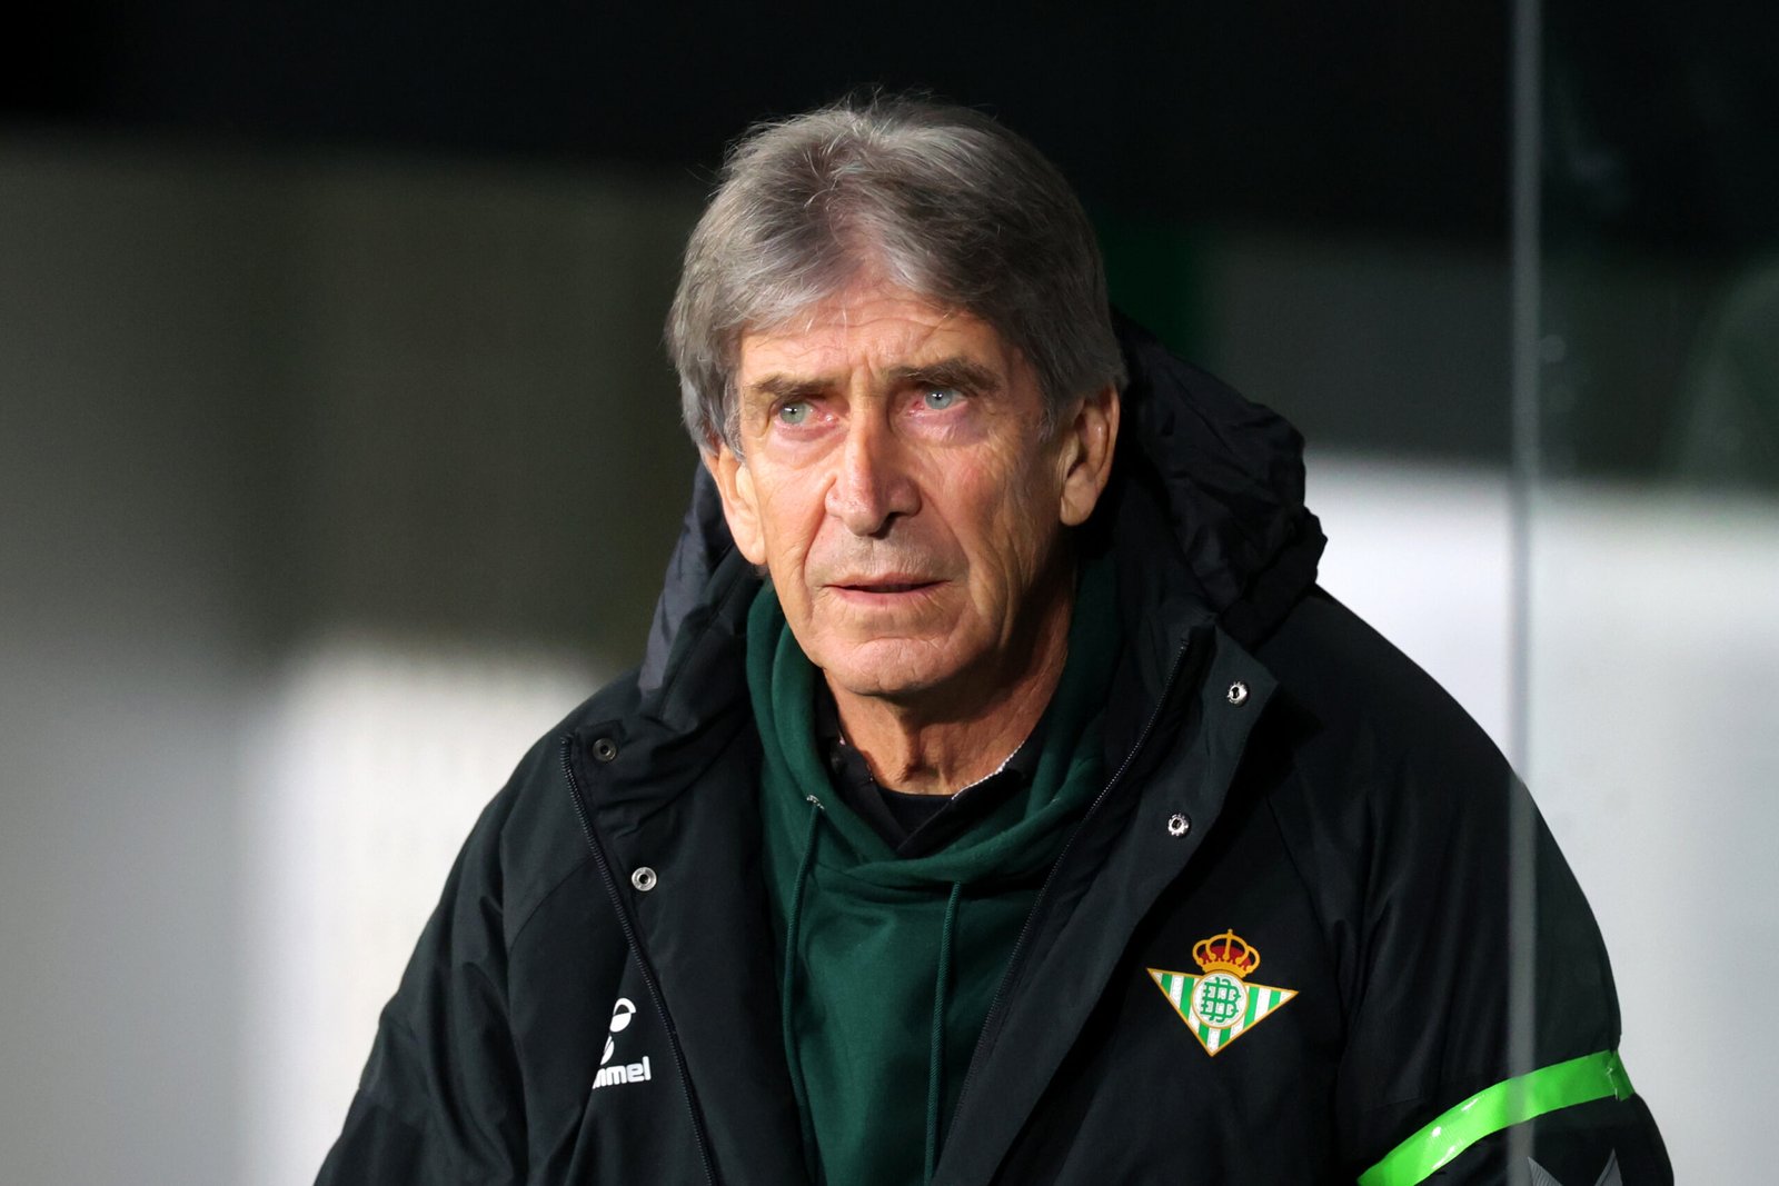
[[[1606,950],[1525,788],[1455,704],[1379,741],[1341,1129],[1361,1186],[1669,1186]]]

